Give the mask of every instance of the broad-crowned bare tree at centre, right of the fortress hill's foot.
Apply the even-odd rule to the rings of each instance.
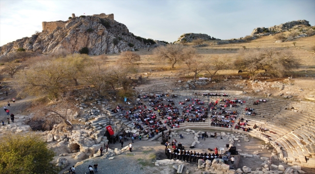
[[[187,58],[187,55],[184,55],[185,52],[189,52],[186,51],[187,49],[191,50],[190,47],[185,47],[180,44],[168,44],[155,49],[154,56],[157,58],[157,60],[168,60],[172,68],[174,68],[174,65],[177,62],[183,61],[185,58]]]

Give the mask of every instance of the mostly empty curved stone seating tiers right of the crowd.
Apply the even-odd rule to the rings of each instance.
[[[268,98],[266,103],[252,105],[259,99],[250,98],[245,104],[254,109],[255,116],[245,115],[244,110],[241,115],[249,120],[249,127],[256,124],[268,131],[256,128],[249,134],[271,140],[281,159],[315,168],[315,103]]]

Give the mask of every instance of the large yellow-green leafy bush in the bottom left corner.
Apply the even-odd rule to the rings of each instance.
[[[0,141],[1,174],[57,174],[54,151],[35,134],[4,134]]]

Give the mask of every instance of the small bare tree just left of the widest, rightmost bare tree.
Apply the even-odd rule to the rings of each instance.
[[[230,59],[212,57],[205,64],[205,71],[210,74],[212,79],[220,70],[226,70],[230,66]]]

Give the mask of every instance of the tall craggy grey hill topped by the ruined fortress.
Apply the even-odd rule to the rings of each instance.
[[[156,46],[152,39],[129,32],[124,24],[114,20],[113,14],[79,17],[72,14],[69,18],[68,21],[43,22],[42,32],[1,46],[0,57],[18,48],[39,53],[76,53],[87,47],[90,55],[101,55]]]

